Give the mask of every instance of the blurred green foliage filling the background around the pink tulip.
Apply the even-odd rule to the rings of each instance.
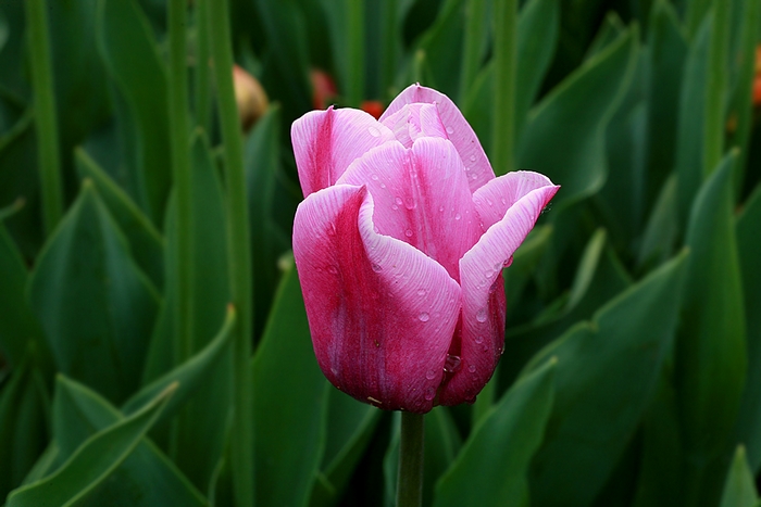
[[[188,104],[180,364],[165,2],[41,1],[65,214],[47,235],[29,20],[4,0],[0,498],[234,505],[225,160],[199,86],[214,0],[188,2],[185,33],[190,102],[213,114]],[[323,378],[288,253],[311,76],[339,106],[437,88],[491,153],[499,1],[230,0],[271,102],[244,132],[258,505],[387,506],[397,481],[398,415]],[[426,418],[425,504],[761,505],[761,4],[525,0],[515,29],[511,156],[562,189],[504,271],[494,405]]]

